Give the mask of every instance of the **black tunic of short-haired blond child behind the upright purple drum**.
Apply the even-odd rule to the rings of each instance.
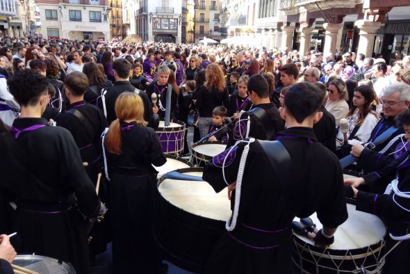
[[[161,120],[165,118],[165,111],[161,110],[161,107],[159,106],[159,101],[161,100],[161,104],[163,108],[167,108],[167,87],[168,87],[168,84],[166,84],[165,86],[159,86],[158,82],[154,82],[147,87],[147,95],[149,98],[149,102],[151,102],[151,107],[154,106],[151,101],[152,93],[155,92],[156,97],[158,98],[156,102],[156,106],[158,106],[158,115]],[[177,101],[178,101],[177,92],[174,90],[174,88],[172,88],[170,119],[173,119],[174,121],[178,120],[177,119],[178,118]]]

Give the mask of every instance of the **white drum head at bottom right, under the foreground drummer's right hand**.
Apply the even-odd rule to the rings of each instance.
[[[328,249],[354,250],[379,243],[383,239],[386,234],[386,227],[379,217],[370,213],[356,211],[356,207],[353,204],[347,204],[347,211],[349,218],[338,227],[334,234],[334,243]],[[322,228],[316,213],[313,213],[310,218],[318,229]],[[299,221],[300,218],[295,218],[294,220]],[[295,236],[306,243],[315,245],[307,237],[297,234]]]

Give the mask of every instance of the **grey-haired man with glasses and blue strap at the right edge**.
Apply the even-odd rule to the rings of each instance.
[[[357,158],[357,166],[366,173],[378,170],[400,157],[408,150],[402,128],[395,127],[395,117],[410,106],[410,86],[405,83],[395,83],[386,86],[382,96],[382,119],[376,124],[364,145],[352,145],[350,154]],[[383,134],[388,138],[383,138]],[[377,139],[382,141],[378,141]]]

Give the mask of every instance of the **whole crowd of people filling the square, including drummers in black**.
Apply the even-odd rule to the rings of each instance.
[[[330,245],[347,219],[345,196],[356,198],[357,210],[380,216],[391,233],[408,233],[410,56],[397,54],[389,63],[352,52],[226,45],[3,44],[0,233],[17,232],[19,253],[54,257],[90,273],[90,261],[112,241],[113,273],[165,272],[151,223],[152,165],[166,162],[155,129],[167,115],[193,130],[194,143],[227,144],[204,170],[215,191],[243,188],[232,199],[231,225],[233,219],[239,225],[215,246],[206,273],[286,273],[293,218],[317,211],[324,227],[312,237]],[[185,136],[180,156],[190,153]],[[278,174],[284,170],[272,166],[275,156],[255,139],[284,144],[292,184],[284,186]],[[345,188],[342,168],[357,177],[346,179]],[[385,193],[392,179],[393,192]],[[266,243],[252,242],[253,234],[277,229],[280,241],[258,235]],[[409,255],[403,242],[384,273],[407,273]],[[13,273],[14,256],[2,235],[0,273]]]

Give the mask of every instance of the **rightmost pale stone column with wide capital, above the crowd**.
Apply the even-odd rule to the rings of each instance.
[[[356,55],[372,56],[373,47],[375,46],[375,35],[377,30],[384,26],[384,24],[382,22],[371,22],[361,19],[357,20],[354,26],[360,29],[359,47],[357,48]]]

